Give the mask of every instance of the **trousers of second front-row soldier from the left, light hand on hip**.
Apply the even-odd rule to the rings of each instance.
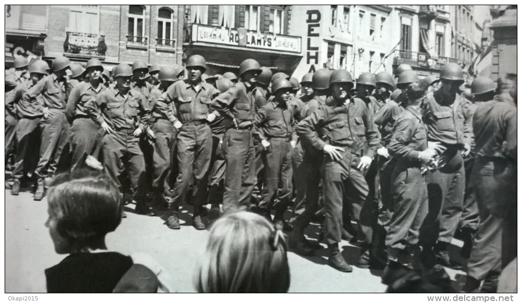
[[[50,118],[43,118],[42,143],[40,144],[40,160],[35,173],[39,178],[54,176],[58,162],[63,155],[64,148],[70,141],[70,124],[61,109],[49,109],[53,114]]]

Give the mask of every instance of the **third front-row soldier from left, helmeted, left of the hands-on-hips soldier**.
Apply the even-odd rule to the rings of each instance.
[[[85,104],[106,89],[101,84],[103,65],[92,58],[87,61],[88,82],[74,87],[67,100],[65,115],[72,122],[71,126],[71,171],[85,167],[88,155],[98,158],[101,149],[103,129],[101,125],[90,119]]]

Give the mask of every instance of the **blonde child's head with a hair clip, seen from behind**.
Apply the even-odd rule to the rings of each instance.
[[[218,219],[195,278],[200,293],[287,292],[290,269],[282,232],[254,213]]]

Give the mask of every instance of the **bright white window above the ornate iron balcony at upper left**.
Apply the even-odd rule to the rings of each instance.
[[[100,29],[98,5],[77,5],[69,11],[69,31],[98,34]]]

